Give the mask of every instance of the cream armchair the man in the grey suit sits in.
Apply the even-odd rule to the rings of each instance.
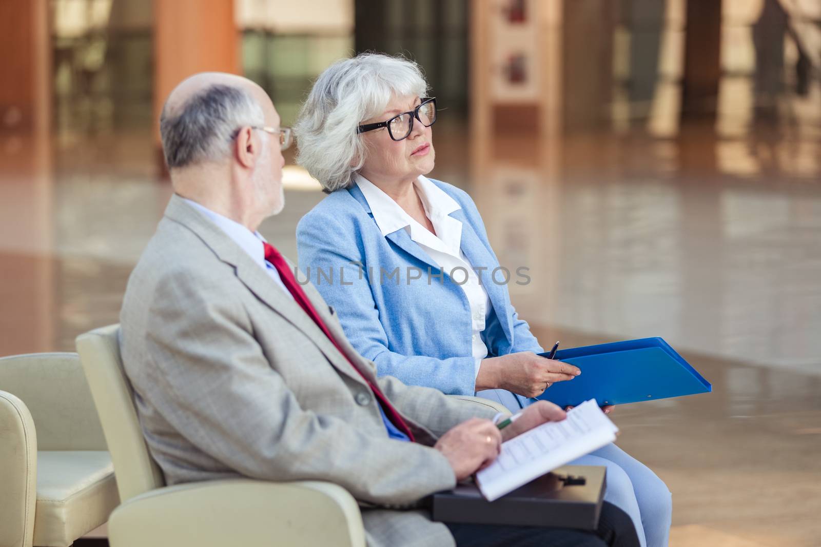
[[[112,325],[77,338],[123,501],[108,521],[112,547],[365,545],[359,506],[338,485],[230,480],[165,486],[140,431],[118,335]]]

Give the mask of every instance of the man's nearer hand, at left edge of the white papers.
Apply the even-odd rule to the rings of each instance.
[[[456,481],[464,481],[493,462],[501,446],[502,433],[493,422],[470,418],[442,435],[433,448],[447,458]]]

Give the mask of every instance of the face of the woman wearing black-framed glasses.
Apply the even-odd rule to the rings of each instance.
[[[388,121],[402,112],[412,111],[420,105],[419,97],[406,95],[394,97],[380,115],[362,122],[362,125]],[[397,180],[413,180],[419,175],[433,171],[432,131],[419,120],[414,119],[413,130],[406,139],[391,139],[388,128],[367,131],[362,134],[365,140],[365,163],[360,173],[374,184],[392,183]]]

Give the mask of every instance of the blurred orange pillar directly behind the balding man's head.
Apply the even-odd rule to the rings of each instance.
[[[177,84],[197,72],[241,71],[234,0],[154,0],[154,135],[159,115]]]

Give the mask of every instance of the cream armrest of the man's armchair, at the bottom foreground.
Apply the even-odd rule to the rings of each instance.
[[[365,547],[353,496],[319,481],[232,479],[151,490],[114,510],[108,537],[114,547]]]

